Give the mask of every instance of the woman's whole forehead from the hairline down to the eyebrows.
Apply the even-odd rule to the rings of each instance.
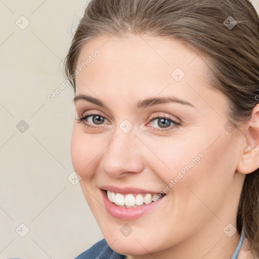
[[[125,98],[162,92],[201,101],[197,93],[202,92],[203,99],[211,95],[206,62],[178,39],[148,35],[93,38],[82,47],[76,69],[77,94],[92,88]]]

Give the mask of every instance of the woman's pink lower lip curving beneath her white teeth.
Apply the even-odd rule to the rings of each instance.
[[[143,205],[135,208],[123,208],[109,201],[105,191],[101,190],[101,192],[106,210],[112,215],[112,217],[125,221],[137,220],[139,217],[141,217],[141,215],[144,215],[152,209],[156,208],[158,204],[161,203],[161,200],[164,200],[166,197],[165,195],[154,203],[144,203]]]

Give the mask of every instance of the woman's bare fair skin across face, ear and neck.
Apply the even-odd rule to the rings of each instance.
[[[242,130],[225,129],[227,97],[207,83],[206,62],[179,40],[148,35],[97,37],[84,45],[77,64],[96,49],[100,55],[76,75],[75,96],[98,98],[106,108],[78,100],[75,118],[98,113],[105,120],[102,124],[95,124],[93,116],[84,122],[75,120],[71,157],[107,243],[134,259],[229,259],[240,235],[229,237],[223,230],[228,224],[236,227],[245,175],[259,166],[258,138],[254,141],[258,128],[252,131],[247,123]],[[176,68],[185,73],[179,82],[171,76]],[[140,100],[172,95],[195,107],[162,103],[136,108]],[[253,114],[257,122],[257,106]],[[166,131],[168,127],[162,128],[158,119],[150,121],[156,116],[181,125],[170,123]],[[128,133],[119,127],[125,119],[133,125]],[[199,153],[204,156],[152,211],[133,221],[115,219],[106,211],[100,186],[160,192]],[[120,232],[124,224],[133,230],[127,237]]]

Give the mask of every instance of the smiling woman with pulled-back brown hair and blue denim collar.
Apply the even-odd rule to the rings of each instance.
[[[83,258],[259,258],[259,21],[247,0],[93,0],[66,57]]]

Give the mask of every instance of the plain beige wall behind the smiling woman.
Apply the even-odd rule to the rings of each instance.
[[[71,175],[74,92],[47,98],[87,3],[0,0],[0,259],[73,259],[103,238]]]

